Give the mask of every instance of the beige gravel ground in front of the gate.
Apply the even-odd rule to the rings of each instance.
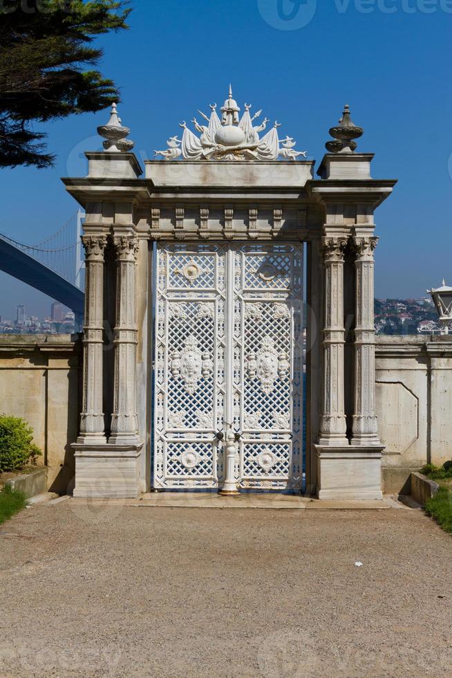
[[[35,506],[0,675],[452,676],[451,550],[415,510]]]

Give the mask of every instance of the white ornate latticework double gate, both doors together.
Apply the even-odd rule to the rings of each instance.
[[[158,244],[153,486],[301,486],[301,244]]]

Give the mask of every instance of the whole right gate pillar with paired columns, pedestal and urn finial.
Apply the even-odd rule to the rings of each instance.
[[[310,186],[326,214],[324,402],[316,446],[317,495],[325,500],[379,500],[383,446],[379,443],[375,419],[373,212],[392,192],[395,181],[371,178],[373,154],[354,152],[356,144],[350,145],[345,113],[349,116],[345,111],[339,131],[332,130],[333,136],[339,135],[339,141],[327,144],[332,152],[324,156],[319,167],[320,181],[313,181]],[[342,127],[347,127],[344,139]],[[353,268],[344,268],[344,250],[349,244],[355,246],[357,257]],[[346,369],[343,361],[343,275],[353,276],[353,284],[348,288],[354,288],[356,295],[355,351],[350,369]],[[345,380],[353,385],[354,398],[350,403],[344,398]],[[347,416],[353,422],[348,437]]]

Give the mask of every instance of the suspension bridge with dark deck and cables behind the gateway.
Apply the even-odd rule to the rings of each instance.
[[[79,210],[56,233],[34,245],[0,233],[0,270],[68,306],[77,322],[84,313],[84,252],[80,240],[84,216]]]

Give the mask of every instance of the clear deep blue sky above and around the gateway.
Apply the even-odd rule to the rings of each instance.
[[[376,215],[377,297],[422,295],[443,275],[452,281],[451,0],[131,6],[130,30],[100,41],[101,68],[121,88],[138,158],[164,148],[180,120],[221,104],[232,82],[239,105],[263,108],[318,164],[348,103],[365,130],[359,150],[375,152],[373,176],[399,179]],[[86,174],[82,153],[99,147],[95,129],[107,118],[101,111],[44,126],[58,154],[52,170],[1,170],[1,232],[34,243],[67,221],[77,205],[59,177]],[[21,302],[48,312],[47,297],[4,274],[0,285],[3,316]]]

